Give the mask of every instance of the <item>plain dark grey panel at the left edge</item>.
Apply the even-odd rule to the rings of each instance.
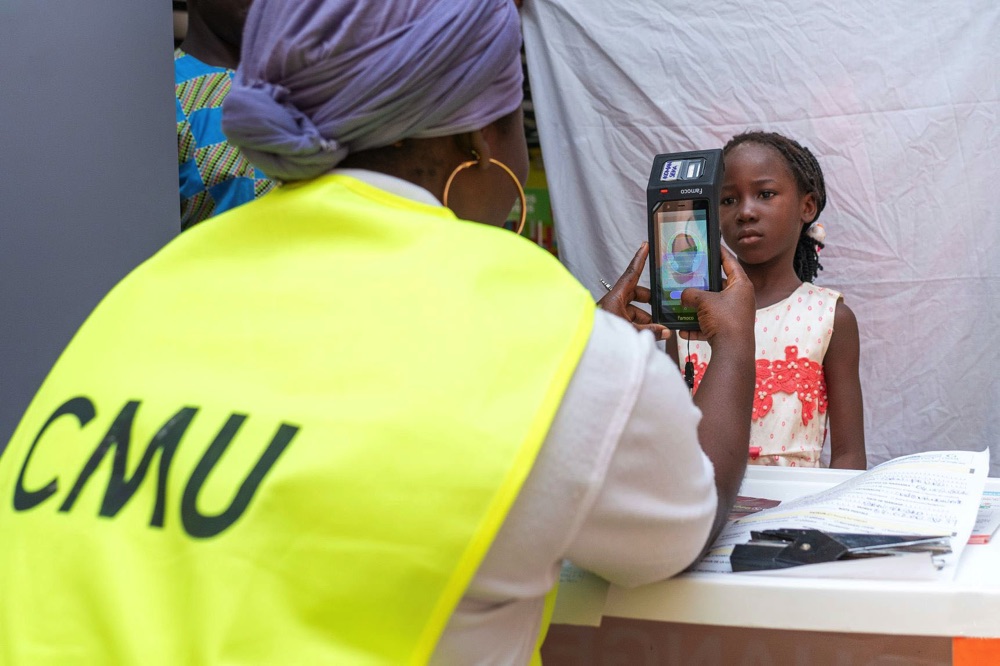
[[[167,2],[0,0],[0,450],[73,332],[178,229]]]

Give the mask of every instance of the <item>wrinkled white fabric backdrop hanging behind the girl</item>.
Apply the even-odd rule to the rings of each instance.
[[[653,155],[787,134],[826,176],[817,282],[858,317],[869,465],[989,446],[1000,475],[1000,3],[525,0],[522,14],[560,256],[595,296],[646,238]]]

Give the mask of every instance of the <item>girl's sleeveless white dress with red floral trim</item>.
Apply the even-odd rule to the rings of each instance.
[[[826,440],[823,358],[833,336],[841,294],[809,282],[783,301],[757,310],[757,378],[749,462],[818,467]],[[712,350],[706,342],[678,340],[682,363],[694,364],[698,390]]]

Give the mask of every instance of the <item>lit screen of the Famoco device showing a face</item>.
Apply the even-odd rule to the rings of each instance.
[[[664,201],[653,219],[662,311],[679,321],[693,321],[695,310],[681,305],[681,292],[709,288],[708,201]]]

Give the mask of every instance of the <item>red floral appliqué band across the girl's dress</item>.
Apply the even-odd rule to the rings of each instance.
[[[826,376],[823,364],[799,356],[796,345],[785,347],[785,360],[757,359],[757,378],[753,395],[753,420],[771,411],[775,393],[796,394],[802,405],[802,425],[815,416],[826,414]]]

